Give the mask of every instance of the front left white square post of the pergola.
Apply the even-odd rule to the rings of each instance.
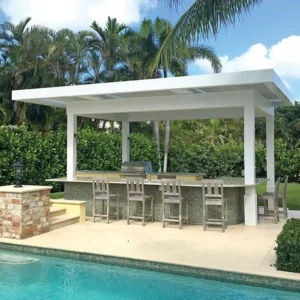
[[[77,170],[77,116],[67,113],[67,179],[74,180]]]

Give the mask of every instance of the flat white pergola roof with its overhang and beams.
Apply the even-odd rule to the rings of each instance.
[[[295,102],[273,70],[19,90],[12,99],[131,122],[243,117],[249,102],[261,117]]]

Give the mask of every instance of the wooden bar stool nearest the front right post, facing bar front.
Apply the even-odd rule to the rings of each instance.
[[[227,228],[227,200],[224,199],[223,180],[202,180],[203,195],[203,229],[208,225],[220,225],[222,231]],[[208,218],[209,206],[221,207],[221,218]]]

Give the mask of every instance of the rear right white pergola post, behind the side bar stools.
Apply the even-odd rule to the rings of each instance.
[[[274,150],[274,116],[266,116],[266,145],[267,145],[267,192],[275,190],[275,150]],[[273,209],[273,201],[269,201],[268,207]]]

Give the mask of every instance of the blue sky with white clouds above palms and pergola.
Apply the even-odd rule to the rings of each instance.
[[[96,20],[104,25],[108,16],[137,27],[143,18],[157,16],[173,23],[193,0],[183,0],[171,11],[164,0],[0,0],[0,23],[32,17],[32,24],[60,29],[88,29]],[[250,15],[216,38],[200,40],[220,57],[222,72],[273,68],[300,100],[300,1],[262,0]],[[189,74],[212,72],[209,62],[191,63]]]

